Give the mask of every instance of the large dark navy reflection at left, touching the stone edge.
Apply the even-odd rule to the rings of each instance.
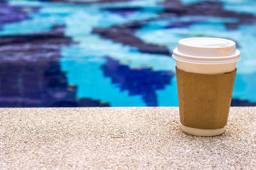
[[[60,48],[72,39],[62,25],[51,31],[0,38],[0,107],[109,106],[77,99],[60,68]],[[12,50],[10,50],[12,49]]]

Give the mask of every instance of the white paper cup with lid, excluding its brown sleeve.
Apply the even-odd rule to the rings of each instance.
[[[177,68],[189,73],[221,74],[236,69],[240,52],[236,43],[222,38],[187,38],[179,41],[173,50]],[[197,136],[216,136],[225,132],[221,129],[196,129],[181,125],[182,131]]]

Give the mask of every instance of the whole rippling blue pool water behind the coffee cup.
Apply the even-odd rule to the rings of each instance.
[[[0,3],[0,36],[22,36],[19,46],[25,42],[20,48],[29,52],[17,50],[16,40],[0,45],[1,90],[10,90],[0,92],[0,106],[178,106],[175,60],[170,55],[179,39],[196,36],[236,41],[241,60],[232,106],[256,106],[256,1]],[[18,20],[20,13],[28,16]],[[52,34],[63,36],[47,37],[50,47],[49,39],[39,42],[36,36],[31,43],[28,38],[60,25]],[[31,50],[35,45],[42,47]],[[42,67],[29,71],[21,67],[24,62],[26,67]],[[17,70],[12,73],[9,65]],[[17,76],[24,72],[28,74]],[[13,79],[4,81],[10,75]]]

